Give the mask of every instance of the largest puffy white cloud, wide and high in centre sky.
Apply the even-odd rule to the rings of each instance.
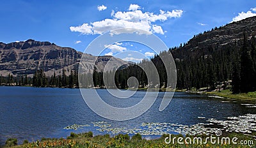
[[[113,18],[106,18],[104,20],[91,22],[90,24],[84,23],[76,27],[71,26],[70,31],[79,32],[81,34],[103,34],[113,29],[134,28],[148,31],[149,33],[164,34],[165,31],[163,31],[162,27],[153,23],[156,21],[164,22],[168,18],[178,18],[181,17],[183,13],[182,10],[160,10],[159,14],[155,14],[138,10],[140,8],[138,4],[131,4],[130,7],[132,11],[112,11],[111,17]]]

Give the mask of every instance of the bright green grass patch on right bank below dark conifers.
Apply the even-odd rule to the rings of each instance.
[[[217,96],[222,96],[225,98],[236,99],[239,101],[250,101],[250,102],[256,103],[256,91],[249,92],[249,93],[232,94],[230,90],[225,89],[220,92],[218,91],[207,92],[207,94],[215,94]]]

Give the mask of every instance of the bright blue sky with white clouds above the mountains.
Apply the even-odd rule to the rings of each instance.
[[[136,26],[156,34],[168,47],[174,47],[188,41],[194,34],[253,15],[256,15],[255,0],[10,0],[1,1],[0,41],[10,43],[32,38],[83,52],[91,41],[108,28]],[[106,26],[109,24],[113,26]],[[115,46],[117,50],[109,48],[104,54],[115,56],[118,49],[124,51],[124,48],[133,48],[138,52],[141,50],[142,54],[150,52],[140,45],[131,44],[119,43]],[[147,55],[152,56],[149,53]],[[133,58],[134,60],[130,60],[140,59]]]

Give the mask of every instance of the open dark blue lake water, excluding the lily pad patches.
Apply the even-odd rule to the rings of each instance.
[[[97,89],[104,101],[116,107],[129,107],[145,95],[138,91],[127,99],[118,99],[105,89]],[[94,126],[79,130],[64,129],[72,124],[92,124],[105,121],[113,128],[140,128],[142,122],[168,122],[183,125],[205,123],[209,118],[225,120],[230,116],[256,114],[255,108],[241,103],[225,102],[203,94],[175,93],[168,107],[159,112],[164,93],[159,93],[154,105],[145,114],[129,121],[109,121],[88,108],[79,89],[0,87],[0,145],[7,138],[35,141],[42,137],[67,137],[70,132],[93,131],[102,135]],[[221,102],[222,101],[222,102]],[[198,118],[205,117],[205,119]]]

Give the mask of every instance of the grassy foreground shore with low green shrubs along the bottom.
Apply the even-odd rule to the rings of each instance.
[[[164,139],[166,137],[170,137],[170,135],[163,135],[161,138],[153,139],[153,140],[145,140],[141,138],[140,134],[136,134],[133,137],[129,137],[129,135],[116,135],[115,137],[110,137],[109,135],[98,135],[93,137],[92,132],[88,133],[70,133],[70,137],[66,138],[42,138],[42,140],[38,140],[36,142],[28,143],[28,141],[25,142],[25,144],[22,145],[12,145],[12,142],[9,142],[9,146],[11,147],[249,147],[255,146],[255,139],[253,139],[250,136],[237,134],[237,133],[229,133],[226,134],[225,137],[230,138],[230,142],[228,144],[228,141],[220,142],[217,141],[216,138],[216,144],[212,144],[211,140],[205,140],[209,136],[206,135],[200,135],[197,137],[202,138],[202,142],[195,142],[193,144],[193,138],[192,136],[186,135],[186,137],[182,135],[171,135],[171,139],[175,137],[176,140],[171,140],[170,144],[166,144],[164,142]],[[183,140],[180,142],[184,142],[184,144],[179,144],[177,142],[177,139],[181,137]],[[216,137],[216,136],[215,136]],[[232,143],[232,138],[236,137],[237,144]],[[186,143],[185,139],[190,138],[192,140],[191,144]],[[166,140],[168,142],[168,139]],[[205,142],[206,141],[206,142]],[[246,144],[241,145],[241,141],[246,141]],[[17,142],[17,141],[16,141]],[[187,140],[189,142],[189,140]],[[205,142],[205,143],[204,143]],[[201,144],[202,143],[202,144]],[[4,147],[9,147],[8,145]]]

